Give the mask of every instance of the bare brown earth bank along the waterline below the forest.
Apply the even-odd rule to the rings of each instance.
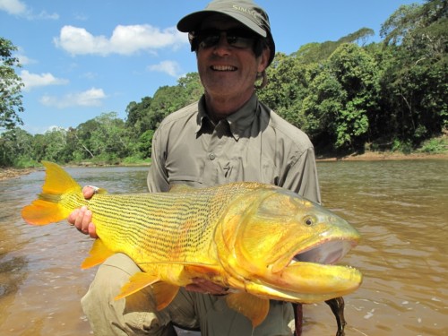
[[[394,151],[367,151],[363,154],[349,154],[346,156],[333,156],[333,155],[316,155],[317,162],[336,162],[336,161],[380,161],[380,160],[405,160],[405,159],[446,159],[448,160],[448,151],[439,153],[425,153],[425,152],[412,152],[409,154],[394,152]],[[150,166],[150,162],[142,162],[140,164],[125,164],[120,163],[114,166]],[[92,164],[90,162],[82,162],[78,165],[66,165],[66,166],[76,166],[76,167],[99,167],[108,165],[98,165]],[[28,175],[34,171],[41,170],[43,168],[0,168],[0,181],[5,179],[10,179],[14,177],[22,177],[23,175]]]

